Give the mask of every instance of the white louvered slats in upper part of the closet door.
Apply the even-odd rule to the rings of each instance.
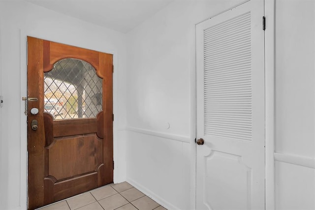
[[[251,12],[203,37],[204,135],[252,141]]]

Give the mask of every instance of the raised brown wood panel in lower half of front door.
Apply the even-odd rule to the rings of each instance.
[[[97,170],[102,163],[102,140],[96,134],[56,137],[46,147],[49,156],[48,176],[67,179]]]

